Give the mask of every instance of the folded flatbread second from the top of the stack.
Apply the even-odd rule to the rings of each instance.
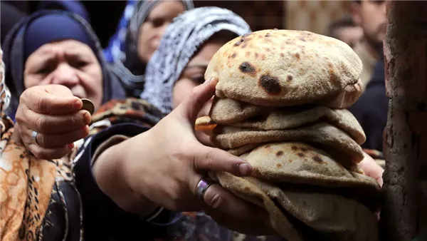
[[[220,102],[221,101],[218,101],[217,103]],[[232,110],[231,108],[226,108],[226,111],[218,111],[218,108],[221,108],[221,105],[212,106],[211,113],[216,113],[213,116],[233,117],[235,113],[239,112],[239,110]],[[254,108],[251,109],[255,110],[256,108],[254,106]],[[254,116],[246,115],[246,119],[241,120],[239,118],[238,121],[221,121],[227,118],[220,118],[218,121],[218,119],[212,117],[212,120],[209,120],[209,124],[226,124],[255,130],[283,130],[297,128],[321,119],[347,132],[359,145],[362,145],[366,140],[366,135],[362,126],[357,119],[354,118],[352,113],[345,109],[332,110],[325,106],[302,106],[300,108],[276,108],[274,111],[269,111],[264,114],[260,112],[256,114],[255,112],[253,113]],[[206,118],[206,121],[209,119],[208,117],[203,118]],[[228,118],[228,120],[231,119],[232,118]]]

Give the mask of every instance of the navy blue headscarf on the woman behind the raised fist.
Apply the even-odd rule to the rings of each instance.
[[[65,28],[61,29],[60,24],[46,21],[49,19],[61,19],[60,23],[65,24],[63,25]],[[41,31],[43,26],[48,31]],[[70,26],[72,27],[67,29]],[[107,63],[105,63],[97,36],[85,20],[77,14],[66,11],[38,11],[16,24],[4,41],[6,84],[12,93],[11,104],[7,111],[9,116],[14,117],[19,105],[19,96],[25,89],[23,72],[28,53],[35,48],[34,46],[41,46],[44,43],[60,39],[76,39],[88,44],[93,49],[102,69],[102,103],[110,99],[125,98],[125,91],[120,82],[109,71]]]

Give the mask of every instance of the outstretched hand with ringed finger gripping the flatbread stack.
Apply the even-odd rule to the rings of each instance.
[[[128,189],[137,193],[133,196],[147,198],[168,210],[209,210],[223,225],[234,229],[237,228],[233,225],[236,220],[239,220],[239,227],[249,227],[246,224],[250,222],[256,225],[249,228],[259,227],[258,220],[266,215],[265,211],[237,198],[216,183],[206,189],[203,198],[196,197],[196,186],[206,178],[208,171],[241,176],[249,175],[252,170],[246,160],[202,145],[195,136],[196,117],[204,103],[213,96],[215,84],[216,81],[210,81],[194,88],[191,96],[154,128],[112,146],[109,154],[105,155],[120,153],[116,154],[122,157],[116,165],[117,172],[122,173],[118,179],[124,180]],[[100,160],[101,156],[95,165],[99,165],[96,163]],[[265,229],[264,232],[271,231]]]

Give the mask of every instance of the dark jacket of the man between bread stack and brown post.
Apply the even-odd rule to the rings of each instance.
[[[386,96],[384,58],[376,63],[366,91],[349,111],[367,135],[363,148],[383,150],[383,130],[387,123],[389,98]]]

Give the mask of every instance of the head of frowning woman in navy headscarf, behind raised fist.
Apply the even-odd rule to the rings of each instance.
[[[107,68],[97,36],[84,19],[72,13],[40,11],[23,19],[4,42],[4,60],[13,96],[8,109],[12,118],[21,93],[39,84],[67,86],[95,107],[125,97],[117,77]]]

